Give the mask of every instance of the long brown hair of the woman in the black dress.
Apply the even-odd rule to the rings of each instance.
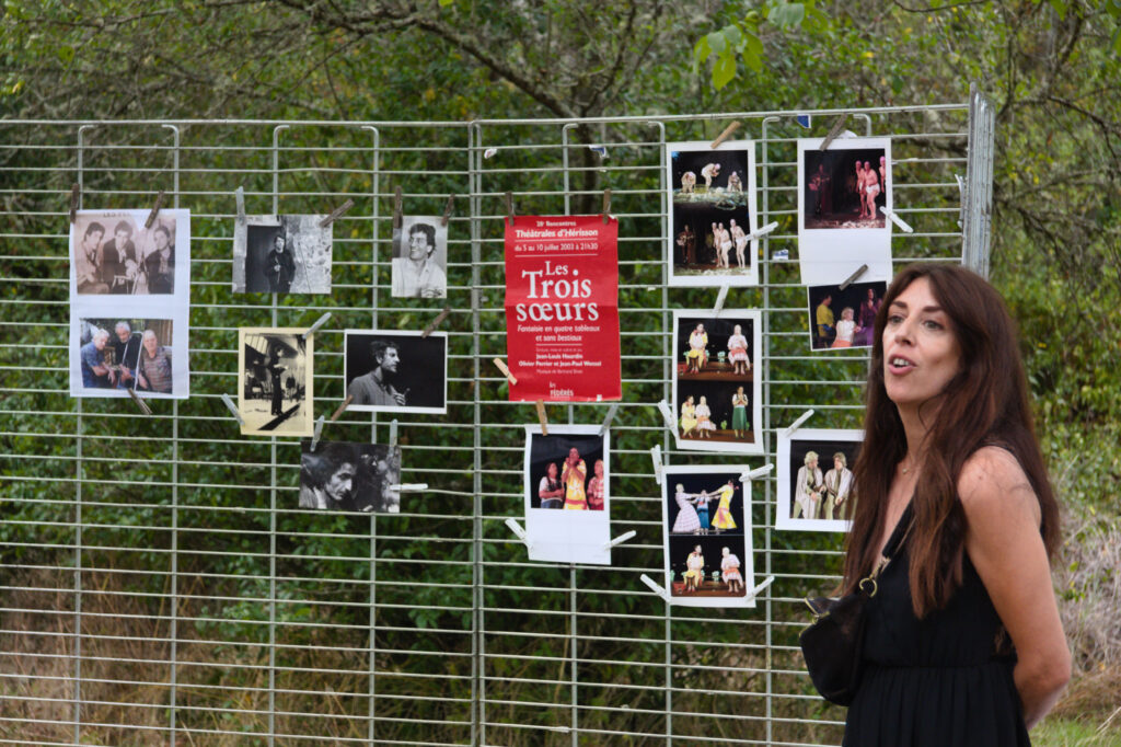
[[[952,265],[911,265],[888,288],[876,315],[872,360],[864,391],[864,443],[853,470],[856,500],[849,534],[843,588],[852,591],[880,553],[888,490],[907,454],[907,437],[883,386],[883,328],[889,307],[911,283],[926,278],[951,320],[961,369],[938,396],[926,436],[923,473],[912,498],[909,540],[911,603],[918,617],[945,607],[962,583],[965,514],[957,496],[962,465],[978,449],[1009,450],[1039,499],[1048,557],[1059,542],[1058,505],[1036,442],[1016,324],[1000,295],[976,274]],[[933,404],[933,403],[932,403]]]

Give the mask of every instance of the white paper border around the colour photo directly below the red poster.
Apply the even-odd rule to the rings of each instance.
[[[540,476],[530,473],[530,444],[534,435],[541,435],[541,425],[526,425],[526,445],[522,467],[522,505],[526,518],[526,537],[529,560],[544,563],[580,563],[581,565],[611,565],[611,431],[603,432],[603,473],[608,485],[603,494],[602,511],[574,511],[564,508],[531,508],[530,490]],[[599,425],[549,425],[549,435],[600,435]],[[589,470],[593,469],[587,465]],[[574,537],[583,542],[573,542]]]

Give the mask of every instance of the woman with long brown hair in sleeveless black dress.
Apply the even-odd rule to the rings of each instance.
[[[865,396],[843,588],[909,528],[865,608],[843,744],[1028,745],[1071,655],[1048,563],[1058,507],[1000,296],[961,267],[905,269]]]

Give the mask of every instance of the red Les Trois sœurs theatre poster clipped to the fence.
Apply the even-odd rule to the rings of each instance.
[[[619,221],[507,221],[506,320],[511,402],[622,398]]]

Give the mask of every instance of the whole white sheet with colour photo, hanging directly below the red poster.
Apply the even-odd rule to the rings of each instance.
[[[611,564],[610,432],[597,425],[526,426],[529,560]]]

